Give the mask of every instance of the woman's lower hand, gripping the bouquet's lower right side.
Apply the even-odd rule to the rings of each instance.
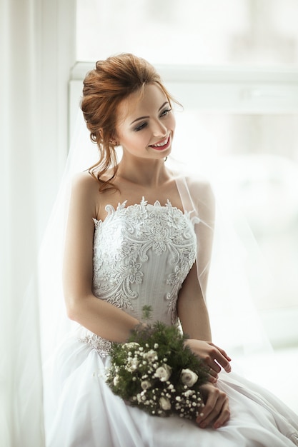
[[[214,428],[222,427],[229,421],[229,398],[224,391],[219,390],[212,383],[205,383],[201,387],[204,408],[197,417],[197,424],[200,428],[206,428],[210,424]]]

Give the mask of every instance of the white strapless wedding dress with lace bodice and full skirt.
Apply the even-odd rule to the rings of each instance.
[[[107,207],[94,220],[94,294],[141,318],[177,321],[177,296],[196,257],[189,215],[159,202]],[[59,347],[46,398],[48,447],[285,447],[298,445],[298,417],[235,373],[220,373],[231,419],[214,430],[177,416],[158,418],[126,406],[104,382],[109,341],[80,328]]]

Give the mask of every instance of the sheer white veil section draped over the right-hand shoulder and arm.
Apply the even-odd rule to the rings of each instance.
[[[272,351],[254,299],[256,283],[269,283],[257,242],[221,185],[179,166],[184,210],[195,210],[197,274],[209,310],[212,339],[230,356]],[[210,205],[211,204],[211,205]],[[214,206],[214,210],[210,207]],[[260,279],[261,278],[261,279]]]

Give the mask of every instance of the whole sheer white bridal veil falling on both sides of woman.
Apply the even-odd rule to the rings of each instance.
[[[59,194],[39,254],[41,353],[44,362],[66,334],[77,326],[66,317],[64,308],[61,282],[64,231],[71,179],[77,172],[88,169],[97,158],[97,147],[91,143],[79,111]],[[214,343],[230,356],[270,350],[254,306],[247,274],[248,271],[252,273],[253,267],[258,271],[260,268],[257,250],[253,256],[251,249],[249,256],[247,254],[247,239],[253,239],[252,234],[245,228],[244,238],[243,231],[239,235],[234,230],[229,198],[217,194],[220,185],[210,183],[204,175],[172,157],[166,164],[175,176],[184,211],[195,219],[197,274],[209,308]],[[49,278],[52,278],[50,283]]]

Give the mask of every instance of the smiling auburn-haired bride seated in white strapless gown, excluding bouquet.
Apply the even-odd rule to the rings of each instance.
[[[231,359],[211,342],[204,295],[214,199],[205,181],[167,168],[172,104],[154,68],[131,54],[98,61],[84,80],[81,109],[100,159],[71,191],[64,296],[80,330],[56,353],[48,446],[298,445],[297,416],[230,373]],[[179,318],[209,367],[195,422],[148,416],[104,381],[111,341],[126,341],[144,305],[152,321]]]

